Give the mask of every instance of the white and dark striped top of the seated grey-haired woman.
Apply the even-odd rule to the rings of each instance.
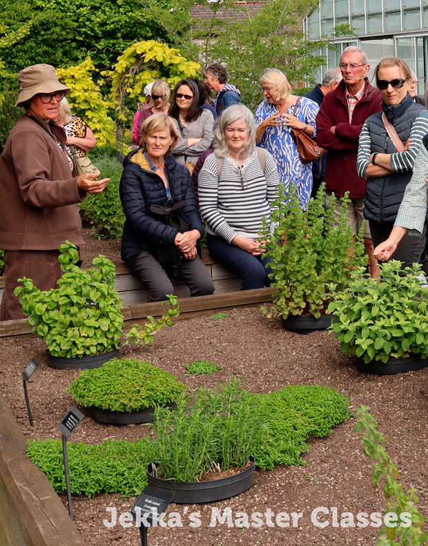
[[[264,154],[264,172],[257,153],[253,153],[241,169],[231,157],[225,157],[220,177],[215,155],[206,158],[198,175],[198,193],[208,233],[228,243],[236,235],[257,238],[262,218],[271,215],[280,184],[275,159],[266,150]]]

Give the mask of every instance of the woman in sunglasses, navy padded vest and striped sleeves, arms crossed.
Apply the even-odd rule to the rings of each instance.
[[[428,133],[428,112],[409,95],[411,72],[398,57],[382,59],[375,69],[376,86],[382,95],[382,112],[362,126],[357,171],[367,178],[364,217],[369,220],[373,245],[388,239],[411,179],[422,138]],[[407,233],[391,256],[402,267],[419,262],[425,248],[427,224],[423,205],[419,235]]]

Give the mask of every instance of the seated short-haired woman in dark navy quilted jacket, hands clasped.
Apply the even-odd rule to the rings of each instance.
[[[213,280],[197,241],[204,235],[193,183],[171,150],[177,144],[173,119],[155,114],[142,126],[142,148],[124,159],[119,193],[126,215],[122,260],[150,290],[151,301],[166,300],[173,271],[191,296],[212,294]]]

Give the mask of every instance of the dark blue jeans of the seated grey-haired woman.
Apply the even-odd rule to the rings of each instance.
[[[242,279],[241,290],[252,290],[271,286],[271,279],[267,276],[272,273],[269,265],[271,258],[265,254],[253,256],[235,244],[229,244],[222,237],[207,234],[208,251],[214,260],[224,265],[237,277]]]

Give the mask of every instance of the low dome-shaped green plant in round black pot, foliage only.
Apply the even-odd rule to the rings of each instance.
[[[81,371],[67,392],[85,407],[130,412],[169,404],[185,390],[166,370],[135,358],[113,358]]]

